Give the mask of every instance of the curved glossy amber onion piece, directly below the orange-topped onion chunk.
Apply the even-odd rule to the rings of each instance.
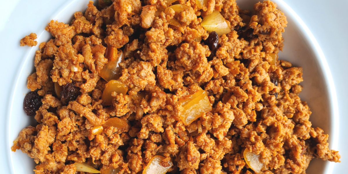
[[[116,92],[117,94],[126,94],[128,91],[128,87],[120,81],[110,80],[107,84],[105,84],[105,89],[103,91],[102,100],[103,105],[111,105],[113,97],[111,96],[112,92]]]

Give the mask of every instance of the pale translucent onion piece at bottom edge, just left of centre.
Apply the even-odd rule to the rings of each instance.
[[[169,161],[170,166],[163,167],[160,165],[160,163],[165,159],[166,157],[163,156],[155,156],[150,161],[149,164],[144,168],[143,174],[165,174],[168,172],[169,168],[173,166],[173,163]]]

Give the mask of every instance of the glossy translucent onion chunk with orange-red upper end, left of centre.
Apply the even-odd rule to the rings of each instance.
[[[124,54],[121,50],[118,51],[116,47],[108,46],[106,58],[108,58],[108,63],[103,66],[99,76],[106,81],[117,80],[122,75],[119,63],[125,60]]]

